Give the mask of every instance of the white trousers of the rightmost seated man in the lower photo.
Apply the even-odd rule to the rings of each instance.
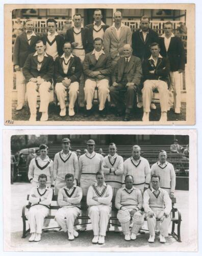
[[[159,224],[159,231],[160,234],[164,237],[168,237],[168,228],[170,225],[170,217],[166,218],[164,216],[164,211],[162,209],[152,209],[154,211],[154,216],[152,218],[149,218],[147,216],[147,225],[148,225],[148,230],[151,236],[155,236],[155,227],[156,227],[156,218],[161,219],[160,224]]]

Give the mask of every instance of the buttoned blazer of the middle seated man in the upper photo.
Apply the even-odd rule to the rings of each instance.
[[[105,76],[106,79],[110,79],[111,74],[111,57],[109,54],[101,54],[98,60],[95,59],[95,54],[92,52],[87,53],[83,63],[84,74],[86,79],[94,79],[91,73],[94,71],[100,71],[101,75]]]

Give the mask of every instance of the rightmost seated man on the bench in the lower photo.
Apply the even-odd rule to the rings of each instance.
[[[156,219],[161,219],[160,242],[165,243],[165,237],[168,237],[168,228],[170,224],[170,212],[172,209],[171,199],[167,191],[160,188],[160,176],[152,175],[152,187],[148,188],[143,195],[143,208],[147,214],[147,225],[149,229],[149,243],[154,243]]]

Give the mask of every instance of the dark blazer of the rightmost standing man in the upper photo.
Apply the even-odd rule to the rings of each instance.
[[[169,58],[170,71],[178,71],[179,69],[185,70],[185,50],[181,38],[178,36],[171,37],[167,52],[164,37],[159,38],[159,44],[161,48],[160,54],[163,57]]]

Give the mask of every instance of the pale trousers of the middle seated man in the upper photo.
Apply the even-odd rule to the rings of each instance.
[[[104,110],[107,95],[109,93],[108,79],[102,79],[97,81],[86,79],[84,87],[86,109],[90,110],[92,108],[92,100],[94,96],[95,87],[98,88],[99,110]]]

